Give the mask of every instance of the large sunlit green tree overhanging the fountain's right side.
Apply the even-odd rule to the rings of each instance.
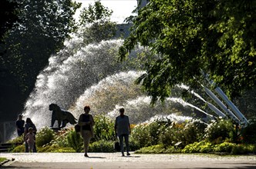
[[[256,85],[255,9],[256,1],[246,0],[150,0],[133,19],[120,58],[137,44],[158,55],[138,79],[153,101],[174,85],[202,81],[201,70],[234,98]]]

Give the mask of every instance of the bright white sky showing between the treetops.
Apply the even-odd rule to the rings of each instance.
[[[82,6],[76,12],[75,18],[78,21],[79,12],[82,8],[88,7],[89,4],[94,5],[95,0],[75,0],[81,2]],[[103,6],[113,10],[111,21],[117,23],[123,23],[123,20],[132,15],[133,9],[136,8],[136,0],[101,0]]]

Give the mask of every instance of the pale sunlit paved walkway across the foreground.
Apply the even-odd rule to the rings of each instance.
[[[1,153],[2,168],[256,168],[256,156],[212,154]]]

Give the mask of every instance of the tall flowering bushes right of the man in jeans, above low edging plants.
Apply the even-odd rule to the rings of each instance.
[[[165,147],[169,147],[180,141],[180,147],[184,147],[203,139],[206,127],[206,124],[197,120],[178,124],[175,121],[158,119],[149,124],[137,124],[132,130],[131,140],[136,141],[139,147],[155,144],[163,144]]]

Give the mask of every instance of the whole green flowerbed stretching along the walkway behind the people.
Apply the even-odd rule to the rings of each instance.
[[[89,144],[90,152],[114,152],[113,121],[103,115],[97,115],[96,138]],[[250,123],[253,124],[252,122]],[[255,154],[256,144],[232,143],[234,125],[231,121],[214,121],[206,128],[201,121],[192,120],[179,124],[167,119],[157,119],[148,124],[132,125],[130,135],[130,151],[143,154],[171,153],[221,153],[221,154]],[[251,127],[248,127],[251,128]],[[206,133],[207,137],[204,138]],[[212,136],[210,136],[212,134]],[[219,137],[222,134],[224,138]],[[49,128],[42,128],[38,134],[43,146],[37,147],[38,152],[82,152],[83,139],[73,128],[59,131],[56,135]],[[55,135],[55,139],[49,139]],[[196,137],[195,137],[196,136]],[[21,137],[22,138],[22,137]],[[16,143],[21,138],[15,138]],[[108,138],[108,140],[106,140]],[[156,139],[157,138],[157,139]],[[51,141],[50,141],[51,140]],[[38,141],[38,139],[36,139]],[[181,141],[179,148],[174,144]],[[194,142],[193,142],[194,141]],[[210,142],[211,141],[211,142]],[[191,143],[191,144],[190,144]],[[182,147],[184,147],[182,149]],[[24,144],[12,147],[12,152],[24,152]]]

